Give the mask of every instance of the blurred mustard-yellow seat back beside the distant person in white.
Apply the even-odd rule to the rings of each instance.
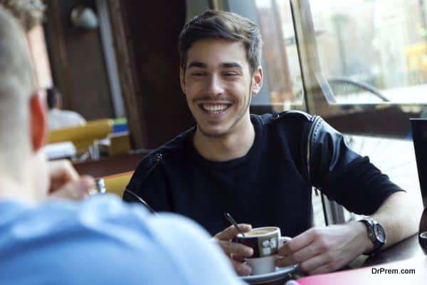
[[[90,120],[86,125],[51,130],[48,134],[48,143],[73,142],[78,153],[88,150],[95,140],[105,138],[113,132],[113,120]]]

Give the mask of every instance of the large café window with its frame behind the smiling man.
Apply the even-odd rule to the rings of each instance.
[[[351,147],[369,155],[392,181],[417,191],[412,143],[389,138],[407,138],[408,119],[427,114],[423,105],[427,103],[424,1],[227,3],[228,9],[243,16],[252,15],[250,9],[256,11],[264,41],[265,87],[269,88],[263,103],[275,110],[292,108],[322,115],[337,130],[352,135],[348,137]],[[312,198],[316,225],[325,224],[321,198]],[[333,203],[325,202],[325,209],[327,222],[357,218]]]

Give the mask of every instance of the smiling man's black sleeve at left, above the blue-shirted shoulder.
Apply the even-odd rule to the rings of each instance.
[[[135,170],[132,178],[123,193],[126,202],[142,202],[156,212],[169,212],[171,205],[167,195],[167,177],[162,171],[162,155],[152,153],[144,157]]]

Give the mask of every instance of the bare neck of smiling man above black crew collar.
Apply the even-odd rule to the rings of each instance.
[[[206,136],[197,128],[193,138],[194,147],[200,155],[206,160],[217,162],[243,157],[251,149],[254,141],[255,130],[249,116],[242,118],[231,133],[223,137]]]

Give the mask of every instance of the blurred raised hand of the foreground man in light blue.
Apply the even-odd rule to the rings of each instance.
[[[50,178],[49,198],[83,199],[88,190],[95,185],[93,177],[80,177],[68,160],[48,162]]]

